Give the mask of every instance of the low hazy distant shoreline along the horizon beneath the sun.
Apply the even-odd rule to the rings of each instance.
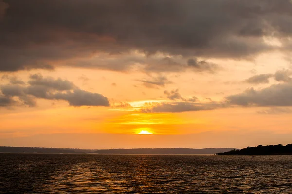
[[[0,147],[0,153],[47,153],[47,154],[215,154],[234,148],[140,148],[140,149],[64,149],[41,147]]]

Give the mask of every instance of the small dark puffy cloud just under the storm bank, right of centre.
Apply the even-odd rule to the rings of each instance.
[[[189,59],[187,61],[187,65],[193,67],[196,71],[199,72],[208,71],[210,73],[214,73],[219,69],[217,64],[209,63],[207,61],[198,61],[196,58]]]

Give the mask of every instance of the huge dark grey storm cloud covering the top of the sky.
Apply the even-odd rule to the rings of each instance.
[[[5,0],[0,18],[0,71],[52,69],[96,52],[118,56],[131,50],[246,58],[275,49],[263,36],[292,35],[290,0]]]

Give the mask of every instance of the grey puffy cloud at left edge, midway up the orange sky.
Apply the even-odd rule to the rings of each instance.
[[[30,76],[28,86],[7,84],[0,86],[0,106],[28,105],[36,106],[36,99],[65,100],[70,106],[110,106],[107,97],[78,89],[73,82],[43,77],[40,74]]]

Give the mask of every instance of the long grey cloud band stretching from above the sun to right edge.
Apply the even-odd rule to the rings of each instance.
[[[164,91],[164,95],[172,102],[146,103],[142,112],[184,112],[213,110],[217,108],[239,106],[272,107],[270,110],[260,111],[263,114],[289,113],[289,109],[279,107],[292,106],[292,82],[274,84],[269,87],[255,90],[249,88],[246,91],[225,97],[222,101],[200,102],[198,98],[184,98],[178,90]],[[277,108],[274,108],[277,107]]]

